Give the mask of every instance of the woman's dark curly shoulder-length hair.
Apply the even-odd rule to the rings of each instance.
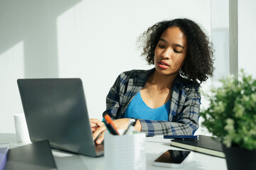
[[[142,56],[146,56],[148,64],[154,64],[154,50],[159,39],[167,28],[178,27],[186,37],[186,58],[181,67],[180,74],[191,81],[206,81],[213,76],[213,45],[208,36],[197,23],[187,19],[178,18],[171,21],[161,21],[149,27],[138,38],[142,42]]]

